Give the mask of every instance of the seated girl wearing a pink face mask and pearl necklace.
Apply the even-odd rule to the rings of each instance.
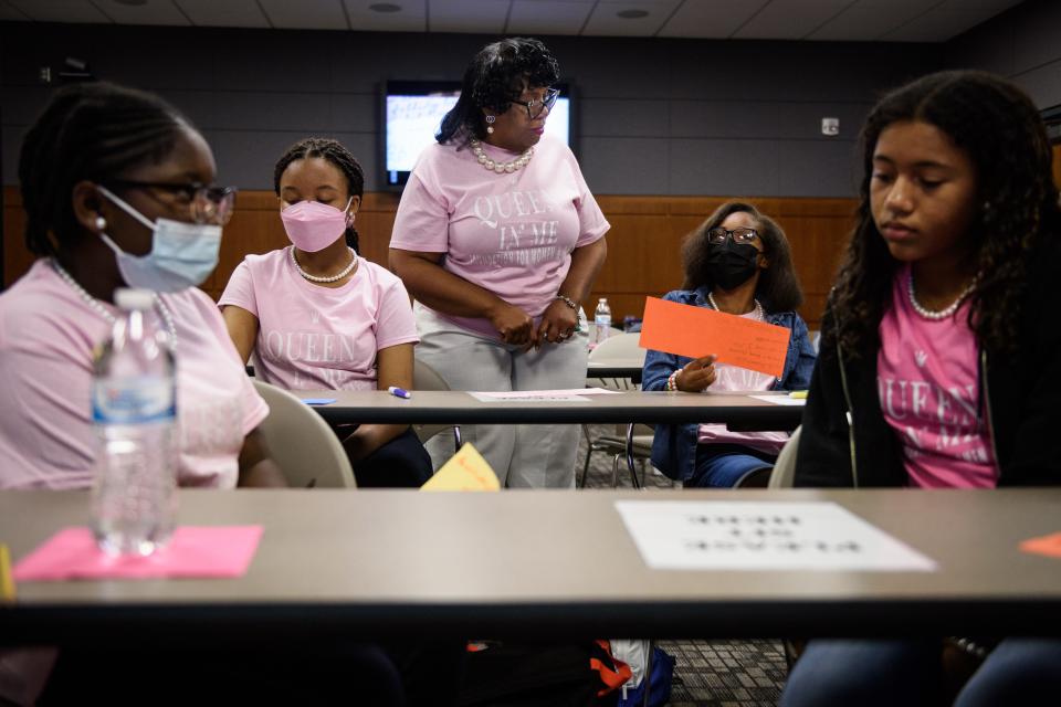
[[[255,376],[287,390],[412,388],[419,341],[401,281],[360,257],[361,166],[335,140],[306,138],[273,184],[291,245],[248,255],[221,295],[229,335]],[[340,436],[358,486],[419,486],[431,460],[408,425]]]

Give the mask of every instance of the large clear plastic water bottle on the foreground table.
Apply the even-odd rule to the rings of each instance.
[[[174,354],[154,297],[146,289],[115,292],[122,314],[93,365],[92,420],[102,443],[93,530],[112,555],[150,555],[176,523]]]

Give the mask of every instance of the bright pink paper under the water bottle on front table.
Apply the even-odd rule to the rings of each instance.
[[[261,538],[261,526],[187,526],[177,528],[169,545],[154,555],[111,557],[96,547],[88,528],[65,528],[22,558],[14,579],[242,577]]]

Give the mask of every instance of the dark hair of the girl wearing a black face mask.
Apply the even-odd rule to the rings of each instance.
[[[727,201],[722,204],[695,231],[685,236],[682,243],[682,265],[685,268],[682,289],[710,289],[714,286],[707,274],[707,232],[722,225],[731,214],[742,212],[755,219],[758,226],[756,232],[763,241],[763,254],[770,261],[769,267],[759,271],[759,282],[755,286],[756,299],[767,312],[795,310],[803,304],[803,291],[792,266],[792,252],[785,231],[774,219],[743,201]]]

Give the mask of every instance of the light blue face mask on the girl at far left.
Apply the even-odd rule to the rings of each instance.
[[[99,193],[116,207],[151,230],[151,252],[147,255],[130,255],[123,251],[111,236],[101,232],[118,261],[118,271],[129,287],[154,292],[178,292],[202,284],[218,266],[221,249],[221,226],[212,223],[185,223],[171,219],[147,217],[114,196],[106,187]]]

